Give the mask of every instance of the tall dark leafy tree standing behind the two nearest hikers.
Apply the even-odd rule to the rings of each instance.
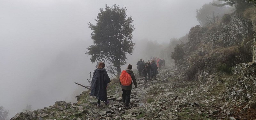
[[[86,54],[92,56],[90,59],[92,63],[108,61],[109,66],[106,66],[114,66],[117,75],[120,75],[121,65],[126,63],[126,53],[132,54],[134,49],[132,32],[135,28],[132,25],[132,17],[127,17],[126,10],[126,7],[106,5],[105,10],[100,8],[98,17],[95,19],[96,25],[88,23],[92,30],[93,44],[87,48]],[[115,74],[113,70],[109,72]]]

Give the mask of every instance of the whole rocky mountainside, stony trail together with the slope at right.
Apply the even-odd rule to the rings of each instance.
[[[253,27],[252,21],[228,14],[219,24],[191,28],[189,41],[183,47],[186,57],[176,66],[169,63],[166,69],[159,71],[157,79],[149,83],[134,70],[138,88],[133,86],[130,107],[122,104],[122,90],[118,80],[113,79],[108,90],[109,105],[97,107],[97,99],[84,91],[76,96],[77,103],[57,101],[44,109],[17,113],[11,120],[255,119],[256,38],[252,36]],[[234,62],[231,73],[217,70],[217,63],[224,64],[231,51],[236,51],[233,46],[240,44],[254,48],[252,61]],[[231,61],[243,56],[234,58]],[[176,100],[170,100],[176,95]]]

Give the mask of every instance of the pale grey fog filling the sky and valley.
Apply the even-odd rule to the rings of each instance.
[[[135,50],[127,63],[136,68],[144,57],[142,39],[169,43],[199,24],[196,9],[212,0],[1,0],[0,106],[10,117],[25,109],[76,102],[96,68],[85,54],[92,30],[105,4],[126,6],[132,16]],[[143,58],[144,59],[144,58]],[[148,58],[145,58],[148,59]],[[123,66],[123,69],[127,65]]]

